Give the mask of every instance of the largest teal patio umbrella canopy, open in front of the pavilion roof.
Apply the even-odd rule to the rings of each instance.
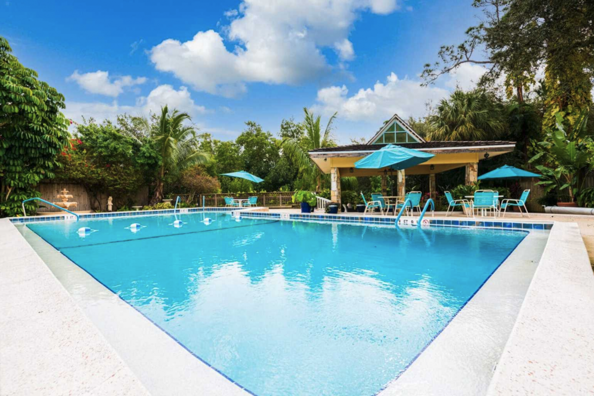
[[[358,169],[380,169],[391,168],[402,170],[411,166],[422,164],[433,158],[434,154],[425,153],[419,150],[407,149],[406,147],[387,144],[381,149],[372,152],[365,158],[355,162]]]

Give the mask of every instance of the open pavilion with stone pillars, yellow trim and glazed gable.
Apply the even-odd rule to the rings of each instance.
[[[476,182],[478,163],[496,155],[511,152],[516,142],[500,140],[475,142],[427,142],[416,133],[406,121],[394,114],[383,127],[365,144],[349,144],[347,146],[327,147],[309,151],[309,157],[325,174],[330,174],[330,199],[340,203],[340,177],[345,176],[377,176],[381,175],[382,192],[386,193],[387,175],[389,168],[357,169],[355,162],[369,153],[386,146],[388,143],[399,144],[410,149],[425,151],[435,156],[423,164],[393,171],[397,174],[397,188],[399,196],[405,195],[406,179],[408,175],[429,175],[429,190],[435,198],[437,187],[435,175],[450,169],[466,167],[466,184]],[[340,206],[339,206],[340,207]]]

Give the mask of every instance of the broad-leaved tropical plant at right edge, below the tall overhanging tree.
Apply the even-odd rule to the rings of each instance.
[[[547,128],[547,140],[539,143],[544,150],[528,162],[545,156],[545,164],[536,166],[542,173],[541,181],[536,184],[544,187],[545,194],[557,191],[560,199],[557,206],[574,207],[577,206],[576,197],[583,189],[585,176],[593,168],[590,161],[593,142],[587,136],[587,117],[584,114],[580,115],[569,134],[565,133],[563,115],[557,113],[555,118],[557,129]]]

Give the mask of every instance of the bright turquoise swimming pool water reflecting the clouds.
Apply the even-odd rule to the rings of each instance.
[[[178,215],[181,227],[175,219],[27,227],[260,396],[380,391],[526,235],[220,212]],[[132,223],[143,227],[133,232]],[[81,227],[93,231],[79,235]]]

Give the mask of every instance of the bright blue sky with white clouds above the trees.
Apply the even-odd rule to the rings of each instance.
[[[279,133],[303,108],[334,112],[334,137],[373,136],[394,113],[421,117],[485,69],[421,87],[426,62],[477,23],[470,0],[56,2],[8,0],[0,35],[63,93],[64,114],[115,120],[168,104],[202,132],[235,139],[245,121]]]

